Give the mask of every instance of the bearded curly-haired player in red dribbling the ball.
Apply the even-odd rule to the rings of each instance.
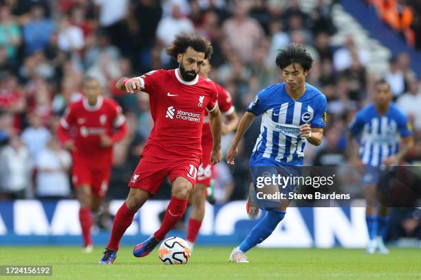
[[[213,82],[199,77],[200,67],[212,54],[212,46],[202,36],[180,34],[166,53],[179,62],[171,70],[151,71],[135,78],[122,78],[116,87],[133,93],[149,93],[154,126],[142,151],[138,167],[129,183],[129,196],[118,209],[107,248],[100,264],[112,264],[122,235],[144,202],[158,191],[167,175],[171,180],[171,201],[160,229],[133,249],[135,257],[149,255],[180,220],[188,196],[195,185],[197,168],[202,161],[202,126],[204,112],[209,112],[213,149],[210,162],[221,158],[221,114],[217,89]]]

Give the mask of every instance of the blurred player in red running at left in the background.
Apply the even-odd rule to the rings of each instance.
[[[85,78],[83,93],[85,97],[71,104],[61,119],[58,139],[72,152],[80,227],[85,252],[90,253],[91,211],[98,211],[107,193],[113,144],[127,135],[127,124],[120,106],[100,95],[98,80]]]

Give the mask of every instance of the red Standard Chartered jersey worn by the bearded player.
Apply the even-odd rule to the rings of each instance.
[[[202,126],[205,108],[217,106],[217,89],[199,75],[182,80],[178,69],[156,70],[139,77],[149,93],[154,122],[142,156],[160,159],[202,159]]]

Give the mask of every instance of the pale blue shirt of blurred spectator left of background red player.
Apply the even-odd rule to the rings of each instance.
[[[45,148],[47,142],[50,141],[51,132],[45,127],[34,128],[32,126],[23,130],[21,139],[23,143],[28,147],[32,159],[36,161],[39,152]]]

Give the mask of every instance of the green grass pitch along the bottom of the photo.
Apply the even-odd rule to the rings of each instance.
[[[76,247],[1,247],[0,265],[53,266],[53,277],[10,279],[421,279],[419,249],[392,248],[390,255],[366,255],[343,248],[254,248],[247,253],[250,264],[228,263],[231,250],[197,246],[185,266],[166,266],[156,249],[136,259],[131,248],[123,247],[115,264],[100,266],[101,248],[83,254]]]

